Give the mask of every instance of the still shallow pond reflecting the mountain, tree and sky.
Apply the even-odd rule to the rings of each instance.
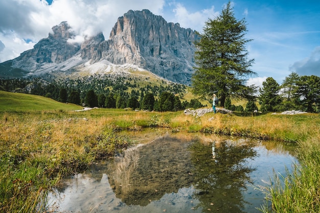
[[[260,212],[274,172],[286,176],[292,147],[245,139],[203,143],[159,137],[66,178],[49,195],[54,212]],[[271,178],[271,180],[270,180]]]

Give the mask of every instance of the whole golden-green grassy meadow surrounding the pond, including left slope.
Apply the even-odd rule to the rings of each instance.
[[[48,191],[64,175],[81,172],[97,160],[165,132],[297,143],[303,166],[296,166],[284,187],[275,183],[269,188],[272,205],[268,202],[261,210],[319,210],[319,114],[207,113],[196,117],[183,111],[74,111],[79,109],[43,97],[0,91],[0,212],[43,212]],[[286,211],[288,206],[292,208]]]

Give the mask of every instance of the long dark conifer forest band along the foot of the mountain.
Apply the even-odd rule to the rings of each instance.
[[[146,81],[148,78],[145,79]],[[181,102],[186,86],[162,80],[159,86],[141,79],[126,76],[89,76],[78,79],[55,80],[52,77],[33,79],[0,79],[6,91],[24,92],[45,96],[63,103],[87,107],[132,108],[155,111],[178,111],[199,108],[197,99]]]

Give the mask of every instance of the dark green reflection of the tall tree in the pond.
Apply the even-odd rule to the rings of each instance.
[[[196,188],[193,196],[204,212],[243,212],[242,192],[252,182],[249,173],[255,170],[246,164],[257,155],[253,147],[250,143],[239,146],[224,141],[215,147],[214,159],[211,149],[200,141],[190,147]]]

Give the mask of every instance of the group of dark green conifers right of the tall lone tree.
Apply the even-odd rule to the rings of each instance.
[[[257,101],[261,105],[262,112],[286,110],[320,112],[320,77],[299,76],[293,72],[281,85],[269,77],[259,88],[259,94],[248,100],[245,110],[241,106],[232,105],[229,98],[226,99],[224,107],[233,111],[253,112],[258,110]]]

